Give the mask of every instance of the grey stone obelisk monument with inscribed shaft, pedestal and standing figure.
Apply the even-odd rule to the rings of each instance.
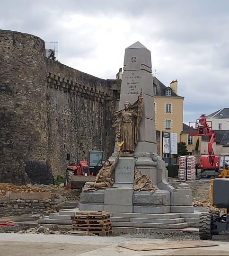
[[[124,144],[123,153],[117,154],[115,146],[109,159],[111,163],[118,161],[112,174],[114,185],[97,191],[83,191],[79,209],[132,213],[194,212],[188,185],[181,185],[178,189],[169,185],[165,162],[157,155],[151,55],[140,42],[125,50],[119,111],[115,116],[117,141],[124,141]],[[149,184],[154,186],[156,191],[151,190],[153,194],[143,191],[144,187],[134,191],[135,168],[143,176],[140,182],[145,181],[148,187]]]

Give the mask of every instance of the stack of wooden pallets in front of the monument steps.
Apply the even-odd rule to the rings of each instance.
[[[89,231],[98,236],[112,234],[112,223],[108,211],[80,211],[71,217],[72,230]]]

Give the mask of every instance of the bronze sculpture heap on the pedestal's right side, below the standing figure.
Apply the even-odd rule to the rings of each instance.
[[[150,194],[153,194],[156,191],[156,188],[153,186],[149,175],[141,174],[141,171],[135,168],[133,190],[150,191]]]

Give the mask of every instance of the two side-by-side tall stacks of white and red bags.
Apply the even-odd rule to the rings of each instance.
[[[187,177],[186,177],[187,174]],[[180,156],[178,178],[180,181],[195,180],[195,157]]]

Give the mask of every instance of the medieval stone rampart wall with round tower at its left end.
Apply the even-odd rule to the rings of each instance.
[[[53,182],[67,152],[109,157],[120,87],[45,58],[39,37],[0,30],[0,181]]]

